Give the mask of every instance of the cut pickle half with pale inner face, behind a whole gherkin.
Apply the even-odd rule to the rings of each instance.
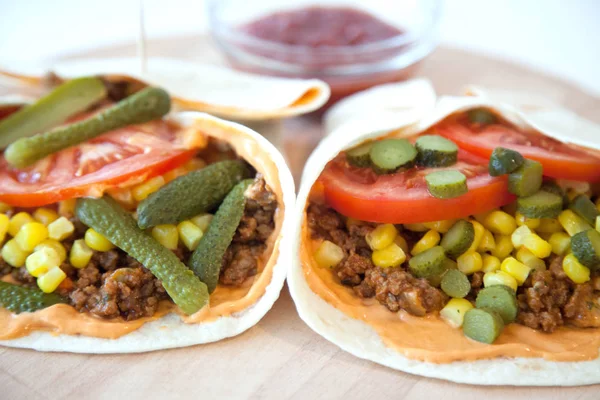
[[[15,140],[65,122],[104,97],[106,87],[98,78],[77,78],[60,85],[47,96],[0,122],[0,150]]]

